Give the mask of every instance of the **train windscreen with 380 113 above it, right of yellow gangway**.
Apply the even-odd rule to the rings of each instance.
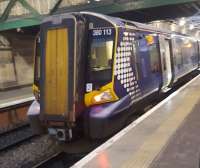
[[[92,30],[90,38],[89,81],[104,85],[112,80],[114,29]]]

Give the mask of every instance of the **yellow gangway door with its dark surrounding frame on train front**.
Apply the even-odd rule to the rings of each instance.
[[[46,123],[75,122],[76,20],[55,16],[41,25],[41,115]]]

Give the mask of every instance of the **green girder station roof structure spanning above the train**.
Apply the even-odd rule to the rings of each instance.
[[[173,7],[177,7],[184,14],[193,15],[193,12],[199,11],[200,2],[199,0],[0,0],[0,30],[39,25],[48,15],[74,11],[93,11],[145,21],[146,16],[151,18],[160,16],[158,12],[166,7],[168,15],[172,13],[169,10]],[[177,13],[181,13],[180,11]],[[121,15],[122,12],[127,12],[127,15]],[[143,13],[144,17],[138,17],[138,13]]]

